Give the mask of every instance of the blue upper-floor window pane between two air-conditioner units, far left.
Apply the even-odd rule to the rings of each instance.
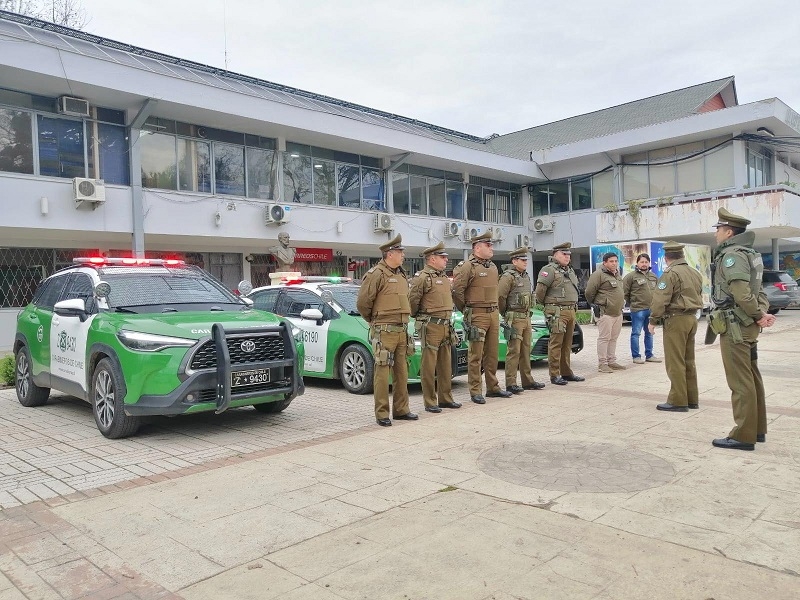
[[[39,173],[85,177],[83,123],[39,115]]]

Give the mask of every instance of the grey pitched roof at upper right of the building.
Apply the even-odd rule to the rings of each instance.
[[[733,85],[734,78],[725,77],[501,135],[490,139],[487,146],[498,153],[527,159],[531,150],[562,146],[697,114],[708,100]]]

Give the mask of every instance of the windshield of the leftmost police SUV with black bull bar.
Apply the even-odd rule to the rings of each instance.
[[[242,307],[242,301],[226,290],[221,283],[196,268],[165,267],[106,267],[100,277],[111,285],[108,306],[111,309],[131,307],[163,307],[190,305],[200,309],[205,305]],[[230,308],[230,307],[228,307]]]

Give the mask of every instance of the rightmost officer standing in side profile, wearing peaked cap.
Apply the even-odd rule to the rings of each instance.
[[[755,233],[750,221],[724,208],[714,227],[717,248],[712,265],[714,310],[711,329],[720,336],[722,364],[731,389],[733,420],[728,437],[712,442],[717,448],[754,450],[767,438],[767,405],[764,381],[758,370],[758,334],[775,317],[767,313],[769,302],[761,286],[764,263],[753,249]],[[706,342],[708,342],[708,336]],[[713,339],[712,339],[713,341]]]

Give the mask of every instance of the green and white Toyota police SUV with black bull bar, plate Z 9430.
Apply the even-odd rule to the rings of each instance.
[[[92,405],[108,438],[141,417],[253,405],[284,410],[304,391],[299,331],[178,260],[78,258],[17,317],[17,398],[51,389]],[[294,329],[294,334],[293,334]]]

